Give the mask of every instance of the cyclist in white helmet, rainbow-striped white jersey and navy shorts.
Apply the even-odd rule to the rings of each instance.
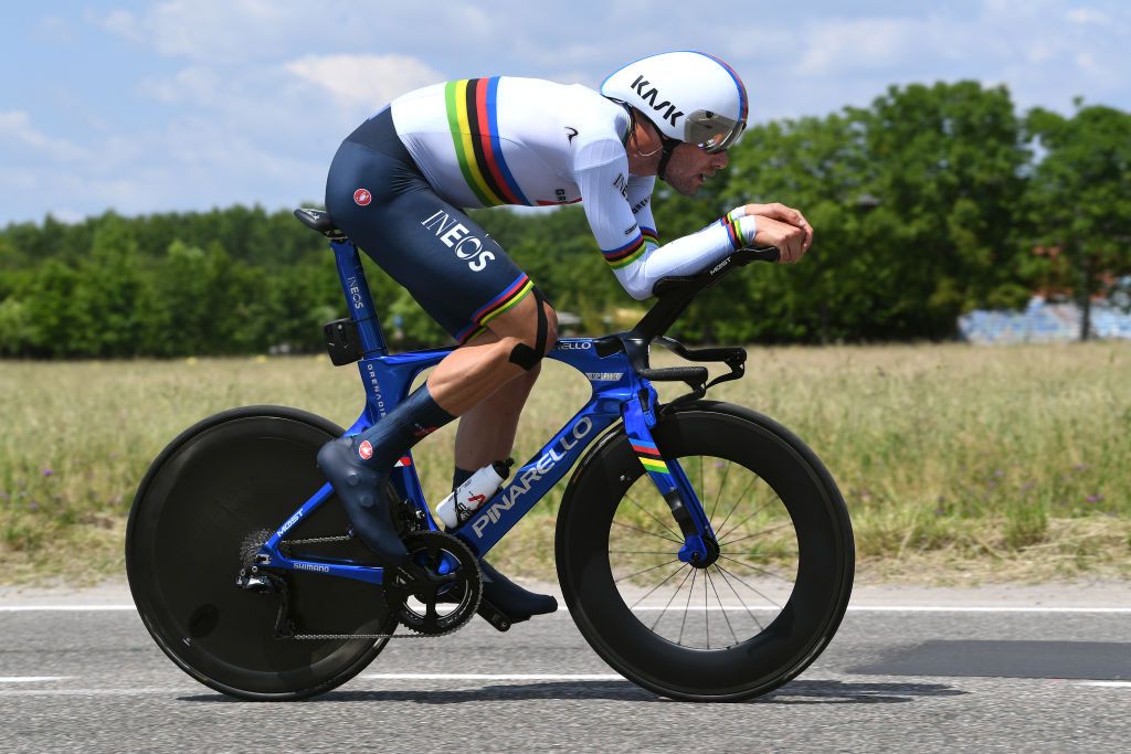
[[[381,492],[396,460],[457,416],[454,488],[509,456],[539,359],[556,343],[551,304],[463,208],[584,200],[605,260],[637,300],[662,277],[751,243],[796,262],[813,232],[782,205],[745,205],[659,243],[656,177],[694,194],[726,167],[746,111],[729,66],[670,52],[618,70],[599,93],[510,77],[438,84],[394,99],[346,138],[327,179],[334,223],[460,344],[381,421],[319,452],[355,532],[382,561],[407,560]],[[512,619],[556,609],[553,597],[482,566],[484,599]]]

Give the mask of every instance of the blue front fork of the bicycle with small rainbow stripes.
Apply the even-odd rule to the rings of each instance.
[[[674,458],[664,458],[651,436],[651,428],[656,426],[656,390],[641,382],[632,399],[624,402],[624,430],[632,452],[663,495],[683,535],[679,558],[696,567],[707,567],[718,558],[718,539],[683,467]]]

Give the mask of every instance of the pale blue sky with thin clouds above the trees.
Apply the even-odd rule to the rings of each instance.
[[[318,201],[342,139],[398,94],[495,75],[597,87],[667,50],[726,60],[756,122],[959,79],[1005,84],[1022,111],[1131,110],[1125,1],[3,5],[0,225]]]

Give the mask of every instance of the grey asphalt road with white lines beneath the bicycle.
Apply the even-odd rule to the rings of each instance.
[[[395,641],[317,700],[244,703],[181,673],[130,609],[0,596],[0,748],[1129,751],[1131,607],[930,598],[854,607],[772,694],[691,704],[611,675],[564,610]]]

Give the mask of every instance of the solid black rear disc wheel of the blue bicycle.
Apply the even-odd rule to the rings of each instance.
[[[305,411],[240,408],[187,430],[149,468],[127,527],[130,590],[157,644],[193,678],[241,699],[302,699],[348,681],[383,649],[387,639],[276,635],[284,596],[296,633],[391,633],[397,619],[380,587],[302,572],[273,577],[282,588],[266,593],[236,586],[249,556],[325,484],[314,459],[342,433]],[[290,537],[347,530],[329,500]],[[372,560],[356,540],[304,547],[303,555]]]

